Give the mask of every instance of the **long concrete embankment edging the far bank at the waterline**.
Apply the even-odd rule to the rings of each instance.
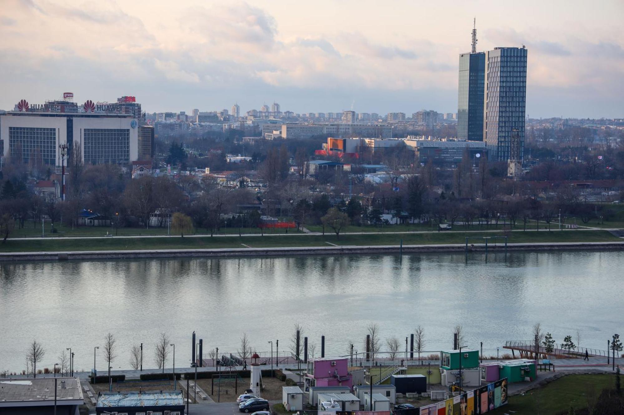
[[[622,242],[544,242],[507,244],[507,251],[550,250],[623,250]],[[177,257],[268,257],[289,255],[384,255],[414,254],[420,252],[464,252],[465,244],[437,245],[381,245],[381,246],[330,246],[330,247],[276,247],[276,248],[222,248],[222,249],[155,249],[155,250],[95,250],[59,252],[2,252],[0,262],[19,260],[85,260],[85,259],[137,259]],[[469,252],[485,252],[485,245],[468,246]],[[504,244],[490,244],[489,253],[505,251]]]

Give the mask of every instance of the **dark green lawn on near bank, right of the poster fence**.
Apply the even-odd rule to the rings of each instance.
[[[492,415],[557,415],[570,405],[575,409],[587,408],[587,399],[597,398],[602,389],[614,388],[613,374],[570,374],[563,376],[543,388],[533,389],[524,396],[509,397],[509,403],[489,412]]]

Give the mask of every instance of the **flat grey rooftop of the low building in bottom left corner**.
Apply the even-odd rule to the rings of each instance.
[[[83,401],[78,378],[56,378],[56,401]],[[65,388],[62,388],[65,382]],[[0,380],[0,407],[7,403],[54,402],[54,378]],[[82,403],[82,402],[80,402]],[[66,403],[69,404],[69,403]],[[71,404],[76,404],[72,402]]]

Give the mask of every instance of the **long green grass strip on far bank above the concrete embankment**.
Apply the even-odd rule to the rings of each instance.
[[[466,236],[476,236],[478,232],[427,232],[425,234],[376,234],[341,235],[326,233],[324,236],[284,235],[284,236],[228,236],[228,237],[157,237],[157,238],[100,238],[100,239],[42,239],[9,240],[0,243],[0,252],[39,252],[64,250],[127,250],[127,249],[210,249],[249,247],[314,247],[348,245],[404,245],[416,244],[463,244]],[[485,236],[502,236],[503,232],[488,232]],[[607,231],[552,231],[552,232],[513,232],[509,243],[513,242],[609,242],[624,241]],[[330,243],[328,243],[330,242]],[[479,243],[471,240],[470,243]],[[490,242],[490,246],[493,242]],[[498,242],[500,245],[500,242]]]

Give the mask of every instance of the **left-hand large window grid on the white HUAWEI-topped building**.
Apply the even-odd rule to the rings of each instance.
[[[9,153],[23,163],[41,157],[46,165],[56,165],[56,128],[9,126]]]

